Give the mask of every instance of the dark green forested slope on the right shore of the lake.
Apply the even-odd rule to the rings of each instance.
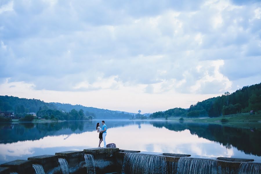
[[[224,93],[222,96],[206,99],[192,104],[188,109],[173,108],[158,111],[150,115],[151,118],[168,117],[220,117],[224,115],[248,113],[251,110],[261,110],[261,83],[244,86],[234,93]]]

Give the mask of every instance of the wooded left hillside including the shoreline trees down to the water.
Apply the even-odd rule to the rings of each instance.
[[[14,112],[18,117],[26,113],[36,113],[37,117],[59,120],[89,119],[129,119],[131,113],[71,105],[62,103],[46,103],[39,99],[26,99],[13,96],[0,96],[0,111]]]

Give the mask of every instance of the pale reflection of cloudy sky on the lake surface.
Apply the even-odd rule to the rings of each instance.
[[[46,136],[39,140],[19,141],[10,144],[0,144],[2,161],[10,161],[14,157],[54,154],[60,151],[96,148],[98,146],[98,133],[88,131],[68,135]],[[253,158],[232,147],[227,149],[220,143],[191,135],[188,129],[184,131],[171,131],[165,127],[156,128],[150,124],[128,124],[124,127],[108,128],[106,142],[115,143],[120,149],[151,151],[162,153],[180,153],[215,157],[244,157]],[[260,157],[256,157],[260,158]],[[254,158],[253,158],[254,159]],[[15,159],[14,159],[15,160]]]

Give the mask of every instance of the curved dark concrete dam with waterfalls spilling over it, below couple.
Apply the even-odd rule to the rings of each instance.
[[[261,174],[252,159],[107,148],[66,151],[1,164],[0,174]]]

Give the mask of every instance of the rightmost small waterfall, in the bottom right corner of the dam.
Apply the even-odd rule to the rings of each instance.
[[[256,163],[241,163],[239,174],[261,174],[261,165]]]

